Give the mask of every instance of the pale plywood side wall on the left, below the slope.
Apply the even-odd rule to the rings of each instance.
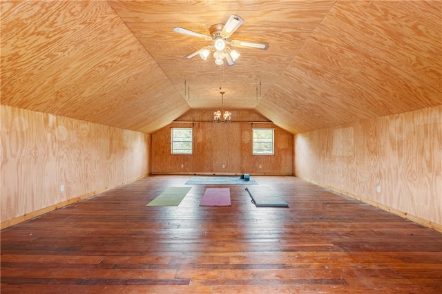
[[[140,132],[1,105],[1,228],[145,176],[149,141]]]

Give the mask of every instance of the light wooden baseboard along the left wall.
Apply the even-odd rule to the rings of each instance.
[[[137,180],[139,178],[144,178],[145,176],[147,176],[147,174],[143,175],[143,176],[140,176],[138,178],[133,178],[131,180],[126,180],[124,182],[120,182],[119,184],[113,185],[111,187],[106,187],[104,189],[99,189],[99,190],[96,190],[96,191],[93,191],[93,192],[90,192],[90,193],[86,193],[86,194],[81,195],[81,196],[70,198],[70,199],[68,199],[66,201],[50,205],[49,207],[45,207],[43,209],[39,209],[39,210],[36,210],[36,211],[32,211],[30,213],[23,214],[23,216],[17,216],[17,218],[12,218],[10,220],[5,220],[5,221],[0,223],[0,229],[6,229],[7,227],[13,226],[14,224],[19,224],[20,222],[24,222],[24,221],[30,220],[32,218],[37,218],[37,216],[42,216],[45,213],[48,213],[48,212],[53,211],[55,209],[60,209],[61,207],[66,207],[67,205],[70,205],[70,204],[73,204],[73,203],[78,202],[80,200],[84,200],[86,198],[95,196],[95,195],[97,195],[99,193],[103,193],[105,191],[114,189],[114,188],[119,187],[121,185],[125,185],[128,182],[133,182],[134,180]]]

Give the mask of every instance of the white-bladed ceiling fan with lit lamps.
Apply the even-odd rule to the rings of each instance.
[[[235,61],[236,59],[238,59],[240,54],[236,50],[231,50],[231,48],[229,48],[229,45],[231,47],[255,48],[260,50],[267,50],[267,48],[269,48],[269,43],[264,42],[252,42],[244,40],[229,41],[229,37],[236,30],[238,30],[243,22],[244,19],[238,17],[238,15],[232,14],[225,25],[221,23],[212,25],[209,28],[210,36],[180,27],[173,28],[173,30],[181,34],[187,34],[189,36],[196,36],[198,38],[206,39],[207,41],[213,41],[212,44],[205,45],[203,48],[200,48],[195,52],[184,56],[185,59],[191,59],[194,56],[200,54],[201,58],[206,60],[210,52],[213,52],[213,57],[215,58],[216,64],[222,65],[224,63],[223,60],[226,59],[227,65],[231,66],[236,64]]]

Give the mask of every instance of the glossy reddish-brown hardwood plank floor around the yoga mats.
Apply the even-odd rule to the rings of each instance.
[[[289,208],[146,207],[190,176],[149,176],[1,231],[1,293],[442,293],[442,234],[291,176]]]

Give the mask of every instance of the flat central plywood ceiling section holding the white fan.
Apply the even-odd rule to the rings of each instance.
[[[333,1],[109,1],[192,109],[253,109],[284,72]],[[265,41],[267,51],[242,49],[237,65],[217,66],[183,57],[208,41],[173,32],[182,27],[202,34],[231,14],[244,19],[230,39]],[[258,94],[257,94],[257,87]],[[190,90],[190,95],[187,94]]]

